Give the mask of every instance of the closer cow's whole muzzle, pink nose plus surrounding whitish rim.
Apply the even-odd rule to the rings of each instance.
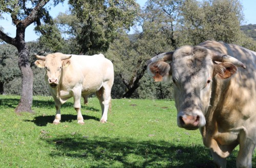
[[[177,124],[181,128],[195,130],[205,126],[205,117],[199,111],[189,115],[180,112],[177,116]]]

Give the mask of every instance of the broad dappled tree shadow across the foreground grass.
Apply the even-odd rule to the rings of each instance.
[[[77,134],[44,139],[56,145],[57,150],[50,154],[52,157],[84,159],[90,162],[89,167],[214,167],[210,151],[202,146]]]

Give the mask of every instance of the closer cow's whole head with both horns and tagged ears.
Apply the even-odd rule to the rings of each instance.
[[[206,124],[212,79],[216,76],[229,78],[237,71],[237,66],[245,68],[229,55],[201,46],[183,46],[173,52],[156,55],[148,61],[147,71],[155,81],[166,77],[173,81],[177,124],[181,128],[197,129]]]

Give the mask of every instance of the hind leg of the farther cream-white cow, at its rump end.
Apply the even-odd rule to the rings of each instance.
[[[101,106],[101,123],[106,123],[108,120],[108,110],[111,103],[111,88],[104,86],[96,92],[97,98]]]

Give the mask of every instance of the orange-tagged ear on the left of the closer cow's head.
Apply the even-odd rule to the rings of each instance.
[[[155,81],[162,81],[163,77],[168,76],[170,65],[163,61],[157,61],[147,66],[147,72],[153,76]]]

